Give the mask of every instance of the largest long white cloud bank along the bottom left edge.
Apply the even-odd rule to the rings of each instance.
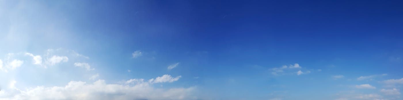
[[[9,94],[6,98],[10,100],[196,100],[194,91],[195,87],[162,89],[149,83],[106,84],[98,80],[92,84],[71,81],[66,86],[37,86],[0,95]]]

